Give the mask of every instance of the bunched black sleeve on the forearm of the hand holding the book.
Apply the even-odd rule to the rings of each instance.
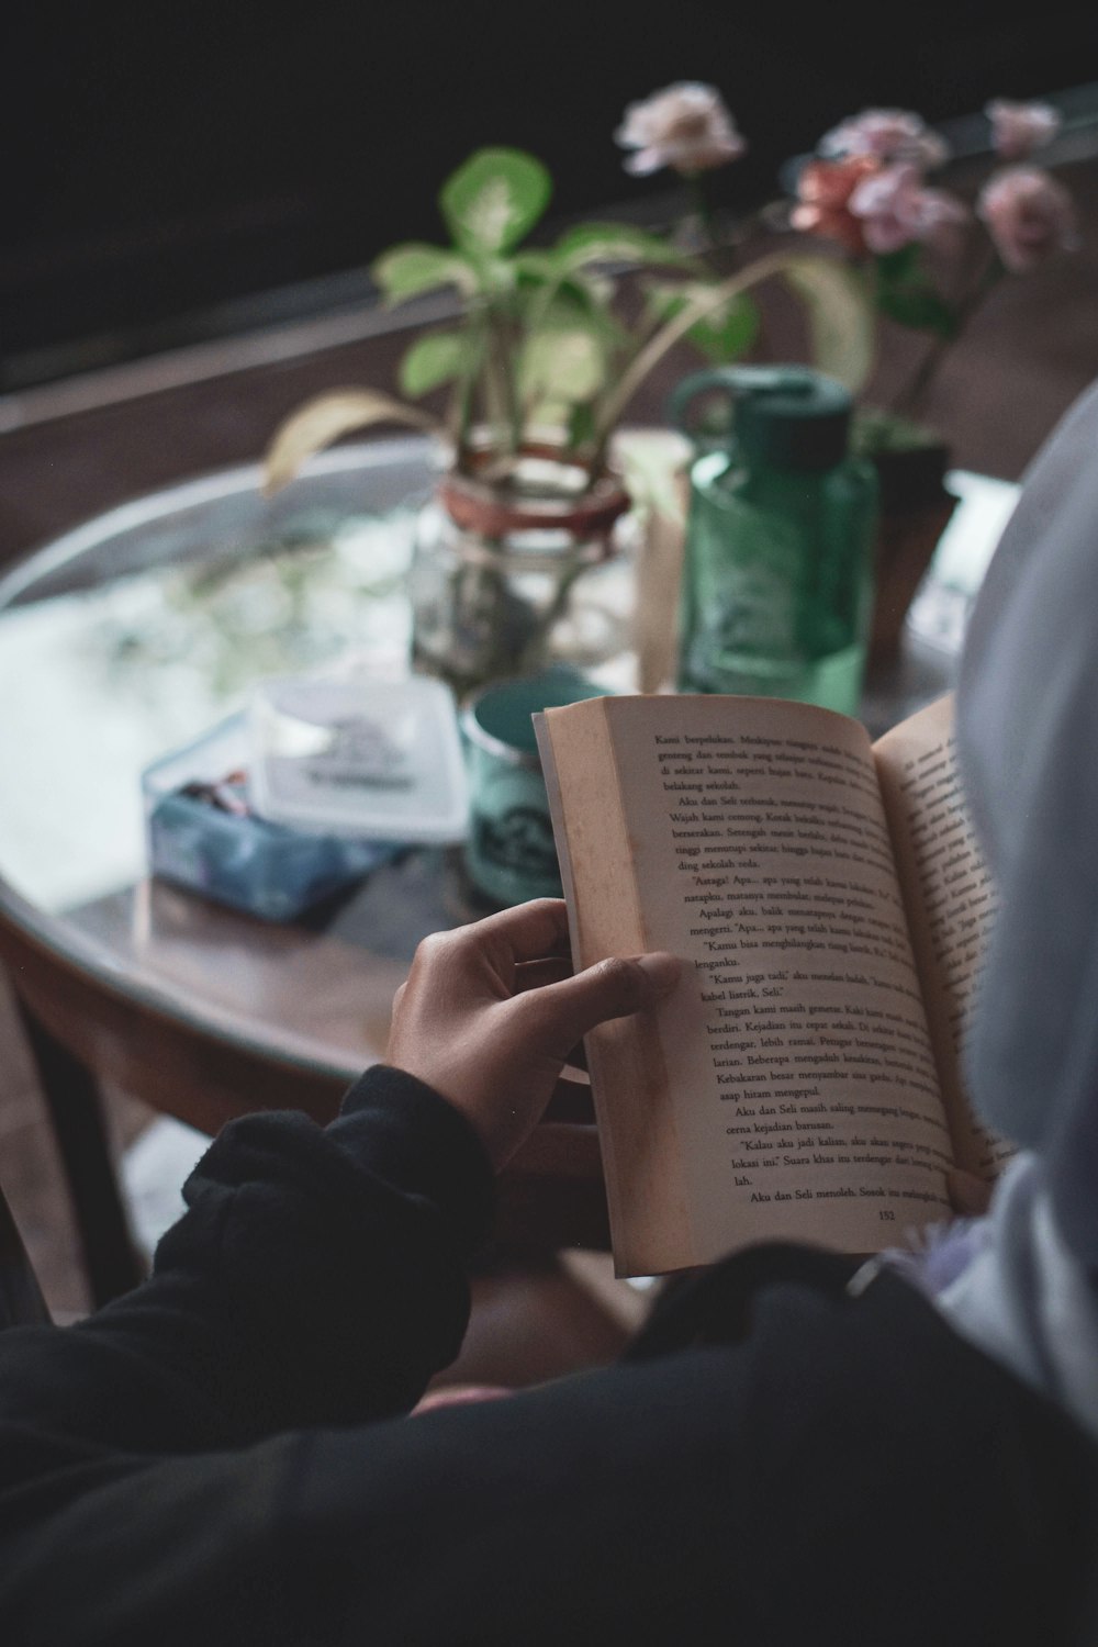
[[[232,1123],[186,1199],[148,1283],[64,1334],[0,1342],[0,1420],[127,1451],[240,1446],[402,1411],[458,1352],[491,1173],[418,1082],[370,1071],[326,1130]]]

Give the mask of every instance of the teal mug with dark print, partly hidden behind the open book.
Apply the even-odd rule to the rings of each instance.
[[[579,670],[558,664],[537,675],[497,680],[464,707],[461,733],[471,812],[466,870],[477,891],[494,903],[561,896],[532,716],[603,695],[604,688]]]

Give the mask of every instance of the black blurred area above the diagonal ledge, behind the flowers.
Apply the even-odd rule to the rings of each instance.
[[[751,142],[713,178],[751,208],[868,104],[948,122],[1098,81],[1098,8],[782,0],[237,0],[16,5],[0,226],[0,387],[44,382],[369,293],[364,265],[440,234],[476,147],[540,155],[568,219],[667,201],[612,133],[675,79]],[[265,295],[257,300],[258,295]]]

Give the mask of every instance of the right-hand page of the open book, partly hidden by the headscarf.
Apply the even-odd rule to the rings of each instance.
[[[1012,1151],[971,1113],[961,1051],[996,893],[965,809],[951,695],[879,738],[874,758],[955,1159],[994,1178]]]

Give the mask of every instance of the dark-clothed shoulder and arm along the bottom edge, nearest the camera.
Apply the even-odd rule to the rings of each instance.
[[[0,1500],[0,1640],[1091,1642],[1065,1629],[1086,1438],[897,1276],[851,1299],[817,1273],[756,1275],[742,1342],[56,1471]]]

